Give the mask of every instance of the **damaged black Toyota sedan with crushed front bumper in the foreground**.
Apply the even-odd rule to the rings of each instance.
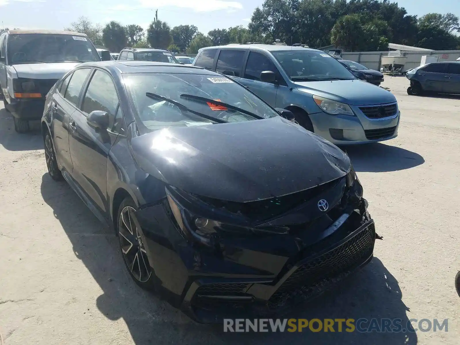
[[[132,279],[197,321],[275,315],[373,257],[348,156],[219,73],[82,63],[42,131],[51,177],[115,229]]]

